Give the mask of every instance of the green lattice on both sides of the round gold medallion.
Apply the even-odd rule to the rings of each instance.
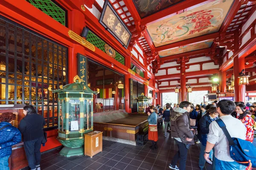
[[[106,43],[95,34],[93,34],[91,31],[88,31],[86,40],[95,45],[101,51],[106,52],[104,47]],[[122,65],[125,65],[125,57],[122,57],[118,52],[116,52],[115,60],[120,62]]]

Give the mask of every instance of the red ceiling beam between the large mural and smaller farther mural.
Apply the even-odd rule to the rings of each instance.
[[[218,32],[215,32],[215,33],[212,33],[212,34],[207,34],[207,35],[202,35],[200,37],[194,37],[194,38],[190,38],[190,39],[187,39],[187,40],[182,40],[182,41],[174,42],[174,43],[171,43],[171,44],[168,44],[168,45],[163,45],[163,46],[160,46],[160,47],[156,47],[155,51],[158,52],[158,51],[168,50],[170,48],[180,47],[180,46],[183,46],[183,45],[193,44],[193,43],[196,43],[196,42],[207,41],[207,40],[210,40],[210,39],[215,39],[219,36],[220,36],[220,34]]]

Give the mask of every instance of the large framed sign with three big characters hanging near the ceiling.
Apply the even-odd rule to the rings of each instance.
[[[125,48],[128,48],[131,40],[131,32],[108,0],[105,0],[99,23],[101,23]]]

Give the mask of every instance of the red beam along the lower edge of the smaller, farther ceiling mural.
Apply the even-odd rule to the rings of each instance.
[[[189,51],[189,52],[186,52],[186,53],[181,53],[181,54],[175,54],[175,55],[172,55],[172,56],[168,56],[168,57],[162,57],[160,58],[160,61],[169,61],[169,60],[172,60],[172,59],[179,59],[180,57],[190,57],[190,56],[195,56],[195,55],[198,55],[198,54],[208,54],[211,52],[211,48],[204,48],[204,49],[201,49],[201,50],[196,50],[196,51]]]

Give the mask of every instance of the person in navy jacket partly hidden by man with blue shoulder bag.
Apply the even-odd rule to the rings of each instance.
[[[218,119],[218,113],[216,111],[216,107],[209,108],[207,113],[202,116],[202,118],[199,120],[200,125],[200,133],[201,135],[201,150],[199,154],[199,168],[201,170],[204,169],[205,159],[204,159],[204,150],[206,148],[207,143],[207,135],[209,133],[209,126],[212,123],[212,121],[215,121]],[[213,154],[214,155],[214,154]],[[209,164],[213,164],[213,170],[215,170],[215,157],[213,156],[212,161],[207,161]]]

